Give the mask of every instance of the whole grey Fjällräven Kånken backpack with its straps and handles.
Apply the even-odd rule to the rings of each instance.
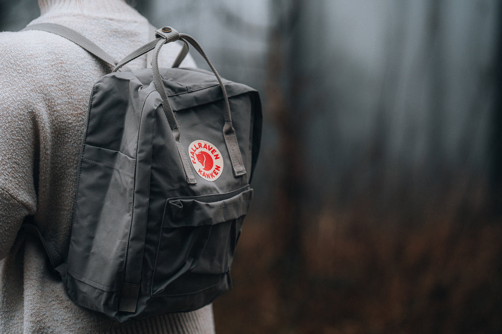
[[[66,256],[35,234],[77,304],[118,321],[196,310],[231,287],[230,265],[253,198],[258,92],[220,78],[200,45],[170,27],[120,62],[80,34],[37,24],[114,70],[92,88]],[[159,68],[181,40],[174,68]],[[188,43],[213,71],[178,68]],[[154,50],[152,68],[118,71]]]

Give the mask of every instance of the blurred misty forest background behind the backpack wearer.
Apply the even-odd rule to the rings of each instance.
[[[130,3],[263,99],[218,333],[502,333],[500,1]]]

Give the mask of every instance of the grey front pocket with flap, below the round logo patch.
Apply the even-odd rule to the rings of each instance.
[[[242,221],[253,198],[249,186],[225,194],[166,201],[152,295],[200,292],[230,270]]]

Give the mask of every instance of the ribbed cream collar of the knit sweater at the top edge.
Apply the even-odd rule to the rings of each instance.
[[[38,0],[41,15],[133,18],[139,15],[124,0]]]

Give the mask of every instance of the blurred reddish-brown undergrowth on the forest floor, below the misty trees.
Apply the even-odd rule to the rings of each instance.
[[[480,194],[323,208],[294,263],[273,221],[253,211],[234,289],[214,302],[217,332],[502,333],[502,220],[483,213]]]

